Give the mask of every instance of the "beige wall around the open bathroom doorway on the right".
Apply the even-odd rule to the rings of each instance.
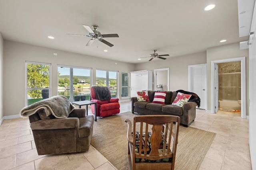
[[[248,115],[249,109],[249,51],[248,49],[240,50],[240,44],[232,43],[228,45],[221,45],[218,47],[212,47],[207,49],[207,110],[211,110],[211,100],[214,100],[214,96],[211,96],[211,61],[232,59],[239,57],[246,57],[246,115]]]

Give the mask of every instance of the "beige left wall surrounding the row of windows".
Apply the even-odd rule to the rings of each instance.
[[[92,68],[92,85],[96,84],[97,68],[117,70],[119,73],[134,71],[135,68],[134,64],[4,40],[4,116],[16,115],[25,107],[25,61],[51,63],[52,96],[58,95],[57,64]],[[121,86],[121,74],[118,78]]]

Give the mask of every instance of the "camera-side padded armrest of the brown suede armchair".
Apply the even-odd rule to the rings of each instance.
[[[79,119],[77,117],[68,117],[61,119],[39,120],[30,123],[30,128],[32,130],[79,128]]]

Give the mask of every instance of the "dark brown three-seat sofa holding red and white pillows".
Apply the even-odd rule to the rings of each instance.
[[[177,96],[177,92],[166,92],[164,103],[152,103],[154,100],[154,91],[148,91],[149,102],[138,102],[137,97],[131,98],[132,113],[140,113],[142,115],[177,115],[180,117],[180,123],[184,127],[188,127],[196,118],[196,102],[187,102],[183,107],[172,105]]]

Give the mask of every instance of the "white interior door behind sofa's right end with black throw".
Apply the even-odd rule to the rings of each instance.
[[[189,66],[189,91],[201,100],[200,109],[206,109],[206,64]]]

